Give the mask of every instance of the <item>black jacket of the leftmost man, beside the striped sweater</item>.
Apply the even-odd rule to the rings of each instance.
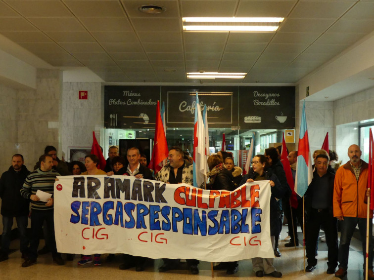
[[[15,171],[13,166],[2,173],[0,178],[1,215],[27,216],[29,214],[29,200],[21,197],[20,190],[30,171],[22,165],[20,171]]]

